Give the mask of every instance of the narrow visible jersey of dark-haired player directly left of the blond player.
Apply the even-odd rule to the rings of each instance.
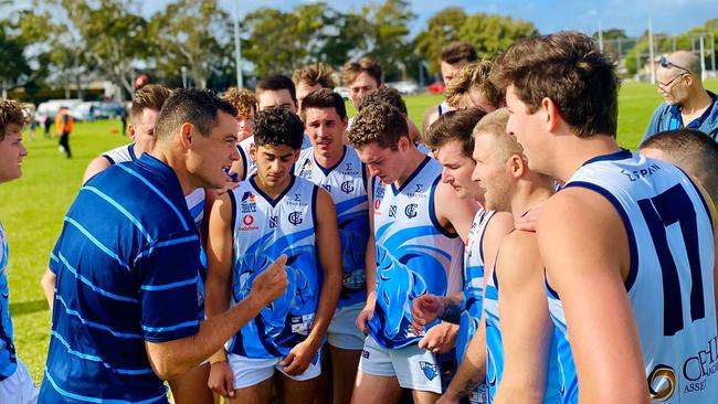
[[[482,318],[482,299],[484,298],[484,232],[494,216],[494,211],[479,208],[474,215],[464,249],[464,301],[461,313],[458,334],[456,336],[456,360],[461,363],[468,342],[476,333]]]

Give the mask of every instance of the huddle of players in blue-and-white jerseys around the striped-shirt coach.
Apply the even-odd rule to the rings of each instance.
[[[621,149],[587,35],[476,59],[444,50],[422,130],[370,59],[351,119],[321,64],[137,89],[50,253],[40,390],[0,226],[0,402],[718,403],[716,142]],[[0,182],[25,121],[0,100]]]

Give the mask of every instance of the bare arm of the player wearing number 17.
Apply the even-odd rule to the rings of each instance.
[[[563,304],[580,402],[648,403],[624,286],[629,242],[617,212],[593,191],[566,189],[543,208],[537,237],[548,281]],[[610,385],[622,387],[605,389]]]

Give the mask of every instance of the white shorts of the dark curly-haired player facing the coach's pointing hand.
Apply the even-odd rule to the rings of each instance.
[[[283,358],[246,358],[234,353],[229,353],[226,357],[234,374],[234,389],[246,389],[260,384],[272,378],[275,370],[297,382],[312,380],[321,374],[321,350],[314,354],[307,370],[296,376],[284,372],[279,365]]]

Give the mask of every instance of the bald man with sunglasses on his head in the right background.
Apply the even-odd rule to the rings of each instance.
[[[688,51],[661,57],[656,85],[666,100],[653,113],[642,142],[680,128],[698,129],[717,140],[718,96],[704,88],[700,72],[700,60]]]

